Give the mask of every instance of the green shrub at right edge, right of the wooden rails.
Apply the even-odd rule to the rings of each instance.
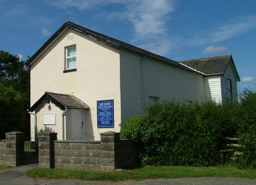
[[[243,167],[256,167],[256,92],[246,89],[241,97],[241,119],[239,131],[243,155],[240,164]]]

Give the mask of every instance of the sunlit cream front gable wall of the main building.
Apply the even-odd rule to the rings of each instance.
[[[63,73],[65,47],[76,45],[77,71]],[[100,140],[104,131],[120,131],[120,56],[99,41],[68,29],[31,66],[31,105],[45,91],[73,94],[88,104],[86,140]],[[97,128],[97,100],[114,100],[115,128]],[[33,115],[31,116],[33,126]],[[33,128],[31,127],[31,130]],[[33,137],[31,131],[31,137]]]

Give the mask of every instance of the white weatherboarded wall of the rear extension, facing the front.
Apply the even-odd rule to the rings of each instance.
[[[221,76],[211,76],[204,78],[205,101],[215,101],[221,103]]]

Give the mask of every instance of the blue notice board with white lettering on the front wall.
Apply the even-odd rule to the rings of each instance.
[[[98,128],[114,127],[114,100],[97,101]]]

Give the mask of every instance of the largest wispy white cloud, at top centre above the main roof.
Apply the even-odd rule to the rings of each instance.
[[[168,36],[166,23],[170,19],[170,13],[174,11],[173,1],[131,1],[126,7],[127,11],[121,17],[129,20],[134,27],[132,41],[156,54],[169,54],[174,43]]]

